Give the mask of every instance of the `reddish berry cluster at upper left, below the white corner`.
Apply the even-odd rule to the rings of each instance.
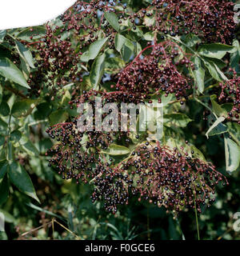
[[[81,52],[72,45],[71,38],[62,40],[56,30],[46,25],[46,35],[35,47],[34,56],[38,55],[37,70],[30,74],[28,84],[30,95],[39,95],[46,90],[51,96],[56,96],[59,89],[70,82],[82,82],[78,62]]]

